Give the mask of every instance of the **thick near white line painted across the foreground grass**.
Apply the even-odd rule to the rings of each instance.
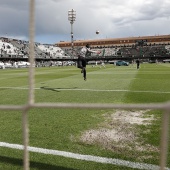
[[[19,149],[19,150],[24,149],[23,145],[10,144],[6,142],[0,142],[0,146],[6,147],[6,148],[12,148],[12,149]],[[125,161],[125,160],[120,160],[120,159],[112,159],[112,158],[105,158],[105,157],[92,156],[92,155],[82,155],[82,154],[76,154],[72,152],[52,150],[52,149],[43,149],[43,148],[37,148],[37,147],[31,147],[31,146],[28,147],[28,151],[49,154],[49,155],[63,156],[67,158],[74,158],[74,159],[79,159],[79,160],[84,160],[84,161],[113,164],[113,165],[137,168],[137,169],[142,169],[142,170],[159,170],[160,169],[159,166],[152,165],[152,164],[130,162],[130,161]],[[165,168],[165,170],[170,170],[170,168]]]

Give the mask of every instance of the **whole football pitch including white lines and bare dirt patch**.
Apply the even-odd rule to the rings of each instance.
[[[170,64],[35,68],[35,103],[170,101]],[[0,105],[26,105],[28,68],[0,70]],[[31,170],[159,169],[162,110],[31,108]],[[170,133],[170,130],[169,130]],[[0,169],[23,169],[22,111],[0,110]],[[170,169],[170,135],[166,169]]]

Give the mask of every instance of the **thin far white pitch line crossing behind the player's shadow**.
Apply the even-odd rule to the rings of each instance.
[[[0,87],[0,89],[16,89],[16,90],[28,90],[28,87]],[[156,93],[156,94],[170,94],[169,91],[142,91],[142,90],[100,90],[100,89],[74,89],[74,88],[52,88],[52,87],[45,87],[45,88],[34,88],[35,90],[59,90],[59,91],[95,91],[95,92],[131,92],[131,93]]]

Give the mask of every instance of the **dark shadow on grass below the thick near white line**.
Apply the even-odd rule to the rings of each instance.
[[[20,166],[20,168],[23,169],[23,160],[22,159],[10,158],[7,156],[0,156],[0,162],[8,164],[9,167],[10,166],[11,167],[12,166]],[[39,170],[75,170],[72,168],[65,168],[62,166],[49,165],[46,163],[33,162],[33,161],[30,161],[30,169],[31,168],[36,168]]]

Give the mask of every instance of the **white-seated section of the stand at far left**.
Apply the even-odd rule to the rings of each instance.
[[[0,38],[0,54],[1,57],[17,57],[28,58],[29,57],[29,42]],[[70,57],[65,55],[64,51],[51,44],[35,43],[34,47],[35,58],[66,58]]]

